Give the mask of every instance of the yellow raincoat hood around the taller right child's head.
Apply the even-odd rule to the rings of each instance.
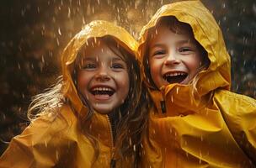
[[[190,8],[191,6],[193,8]],[[201,17],[202,15],[204,17]],[[141,30],[138,49],[141,60],[147,56],[148,30],[155,27],[159,19],[165,16],[173,16],[179,22],[189,24],[193,29],[195,39],[203,46],[211,60],[210,66],[199,74],[199,81],[196,83],[198,96],[201,97],[218,87],[229,90],[231,83],[230,56],[227,53],[221,29],[200,1],[171,3],[160,8]],[[152,87],[152,84],[145,81]],[[179,84],[171,84],[165,89],[169,90],[172,87],[179,90],[190,90],[190,88]]]

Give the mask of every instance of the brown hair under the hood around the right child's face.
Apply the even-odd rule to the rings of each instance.
[[[148,51],[149,51],[149,44],[151,43],[151,40],[154,39],[157,35],[157,28],[165,26],[167,27],[170,31],[172,31],[175,34],[189,34],[191,37],[194,38],[195,41],[195,46],[200,52],[200,57],[201,57],[201,62],[200,62],[200,69],[198,71],[205,70],[209,65],[210,65],[210,60],[207,55],[207,51],[204,49],[202,45],[195,39],[195,36],[193,34],[193,30],[190,27],[189,24],[179,22],[179,20],[173,16],[164,16],[160,18],[157,21],[157,24],[155,27],[152,29],[148,30],[148,36],[147,36],[147,41],[146,41],[146,47],[145,47],[145,55],[143,55],[143,65],[144,65],[144,71],[145,75],[147,76],[148,82],[154,87],[155,89],[157,88],[154,81],[152,81],[152,76],[150,74],[150,65],[148,61]],[[194,86],[194,89],[196,91],[196,82],[198,81],[198,77],[195,76],[190,83]]]

